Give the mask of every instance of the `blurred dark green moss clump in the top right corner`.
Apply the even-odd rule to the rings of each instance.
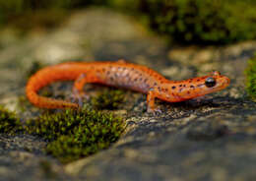
[[[256,37],[253,0],[141,0],[154,30],[178,42],[229,43]]]

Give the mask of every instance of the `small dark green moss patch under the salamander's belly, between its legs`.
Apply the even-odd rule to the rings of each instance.
[[[95,97],[92,97],[92,105],[96,109],[117,109],[124,102],[124,91],[110,90],[102,91]]]

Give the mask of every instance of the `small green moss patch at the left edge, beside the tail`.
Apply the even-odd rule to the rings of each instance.
[[[0,133],[14,135],[21,131],[23,127],[16,114],[0,105]]]

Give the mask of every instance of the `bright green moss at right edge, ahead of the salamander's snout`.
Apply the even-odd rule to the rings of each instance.
[[[248,61],[248,66],[245,71],[247,77],[247,92],[256,101],[256,55]]]

